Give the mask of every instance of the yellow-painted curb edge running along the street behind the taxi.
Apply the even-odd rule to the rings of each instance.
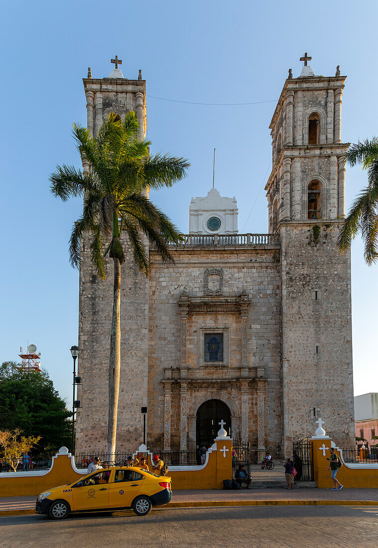
[[[170,503],[154,511],[177,508],[217,508],[232,506],[378,506],[378,500],[208,500],[185,503]],[[124,510],[119,510],[124,512]],[[112,513],[118,513],[117,511]],[[33,508],[25,510],[1,510],[0,517],[35,515]],[[37,514],[36,514],[37,515]]]

